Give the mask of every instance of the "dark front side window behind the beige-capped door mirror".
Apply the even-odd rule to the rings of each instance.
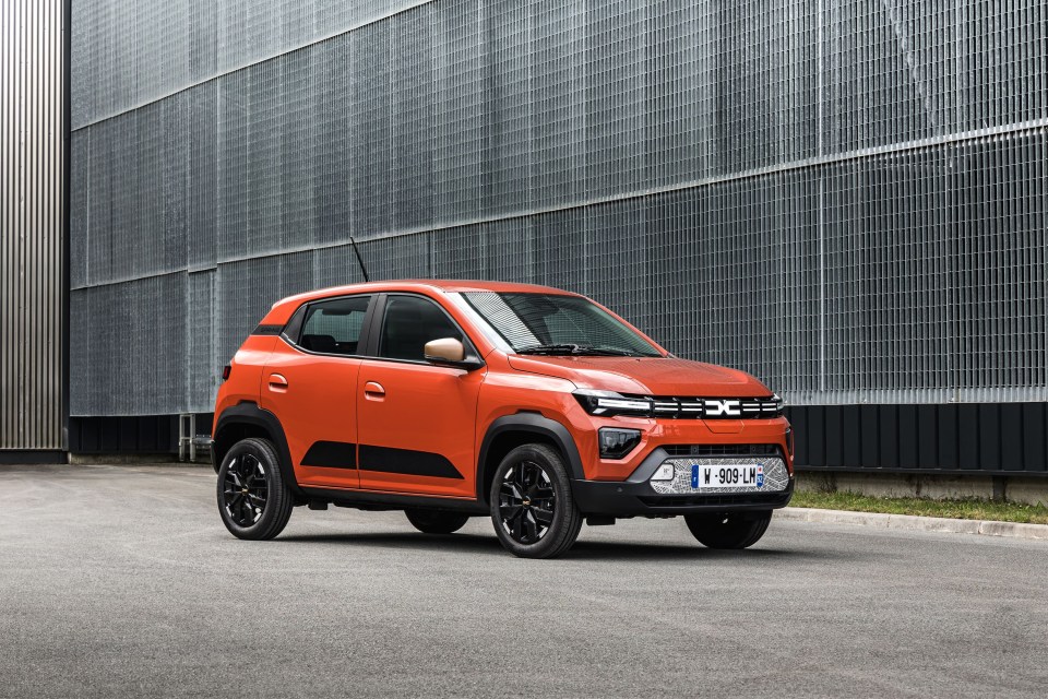
[[[386,299],[380,357],[422,362],[426,343],[441,337],[454,337],[463,344],[468,342],[434,301],[418,296],[390,296]]]

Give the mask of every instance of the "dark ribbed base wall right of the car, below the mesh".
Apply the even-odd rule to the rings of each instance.
[[[1045,403],[798,405],[799,471],[1048,475]]]

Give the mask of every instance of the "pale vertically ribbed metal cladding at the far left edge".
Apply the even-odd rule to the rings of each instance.
[[[0,449],[62,449],[63,3],[0,7]]]

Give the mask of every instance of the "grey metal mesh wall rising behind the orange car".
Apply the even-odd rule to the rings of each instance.
[[[350,233],[795,404],[1048,399],[1044,3],[168,4],[73,2],[74,415],[209,410]]]

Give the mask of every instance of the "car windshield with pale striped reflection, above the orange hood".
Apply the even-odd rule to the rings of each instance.
[[[662,356],[581,296],[468,292],[463,297],[520,354]]]

